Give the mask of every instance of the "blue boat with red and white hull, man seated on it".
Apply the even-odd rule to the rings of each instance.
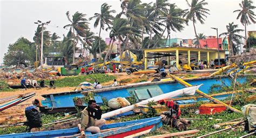
[[[161,117],[140,119],[126,122],[111,123],[103,125],[100,128],[101,133],[92,134],[85,132],[85,137],[125,137],[125,136],[140,136],[157,128],[161,127]],[[16,138],[16,137],[58,137],[58,136],[80,136],[78,127],[60,130],[50,130],[44,132],[30,132],[30,133],[18,133],[18,134],[7,134],[0,135],[0,137]]]

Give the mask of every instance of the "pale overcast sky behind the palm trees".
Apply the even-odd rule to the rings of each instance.
[[[256,5],[256,1],[254,5]],[[156,2],[153,0],[142,0],[143,3]],[[187,9],[188,6],[185,0],[170,0],[170,3],[176,3],[181,9]],[[188,0],[191,2],[191,0]],[[218,27],[219,33],[226,32],[226,25],[234,22],[239,25],[239,29],[244,29],[239,20],[237,20],[237,14],[233,13],[234,10],[239,9],[239,3],[241,0],[206,0],[208,5],[205,8],[210,10],[210,14],[205,19],[204,24],[199,22],[196,24],[197,33],[204,33],[205,36],[216,36],[216,31],[211,27]],[[59,1],[59,0],[0,0],[0,63],[3,63],[4,53],[8,51],[9,44],[13,44],[19,37],[24,37],[33,42],[33,36],[37,29],[37,20],[47,22],[51,20],[51,23],[46,26],[46,30],[51,33],[56,32],[58,36],[62,37],[63,34],[68,33],[68,30],[63,29],[63,26],[69,24],[66,12],[70,11],[70,15],[73,15],[76,11],[85,13],[86,18],[92,17],[94,13],[100,12],[100,6],[103,3],[112,5],[112,9],[117,13],[121,11],[120,0],[83,0],[83,1]],[[256,13],[256,11],[254,11]],[[99,27],[94,28],[93,23],[95,20],[90,21],[91,31],[99,32]],[[247,31],[255,31],[256,25],[251,24],[247,26]],[[245,35],[244,32],[241,33]],[[109,36],[109,32],[102,31],[103,38]],[[165,34],[165,36],[167,36]],[[192,22],[185,25],[185,28],[181,32],[171,32],[171,38],[195,38]]]

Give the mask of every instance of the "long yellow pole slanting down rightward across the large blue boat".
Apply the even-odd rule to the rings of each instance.
[[[174,75],[172,75],[172,74],[169,74],[169,73],[168,73],[168,75],[169,75],[170,77],[172,77],[174,80],[178,81],[180,84],[182,84],[182,85],[184,85],[184,86],[186,86],[186,87],[191,87],[191,86],[192,86],[191,84],[188,84],[186,81],[184,81],[184,80],[182,80],[182,79],[180,79],[180,78],[178,78],[178,77],[176,77],[176,76],[174,76]],[[222,102],[222,101],[220,101],[220,100],[218,100],[218,99],[215,99],[215,98],[213,98],[212,96],[209,96],[209,95],[205,94],[204,92],[200,91],[199,89],[197,89],[196,92],[197,92],[199,95],[204,96],[204,98],[207,98],[207,99],[213,101],[214,103],[219,103],[219,104],[221,104],[221,105],[224,105],[225,107],[231,109],[231,111],[233,111],[233,112],[242,113],[242,112],[239,111],[238,109],[235,109],[235,108],[233,108],[233,107],[227,105],[226,103],[224,103],[224,102]]]

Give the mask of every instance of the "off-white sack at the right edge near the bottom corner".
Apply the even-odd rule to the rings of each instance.
[[[248,121],[246,125],[246,130],[256,129],[256,105],[249,104],[242,107],[242,114],[244,114],[245,119]]]

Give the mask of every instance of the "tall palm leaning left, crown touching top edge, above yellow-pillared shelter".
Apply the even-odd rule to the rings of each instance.
[[[196,26],[194,24],[197,23],[197,20],[199,20],[201,24],[204,24],[204,20],[205,20],[204,17],[205,18],[207,17],[206,14],[210,15],[210,13],[208,13],[208,11],[210,10],[204,8],[204,6],[207,5],[208,3],[205,2],[205,0],[200,2],[199,0],[192,0],[191,4],[188,3],[187,0],[186,2],[187,2],[187,5],[190,7],[190,9],[186,10],[184,17],[186,17],[186,19],[188,20],[192,20],[193,26],[194,26],[194,34],[196,34],[197,41],[199,42]],[[202,47],[200,43],[199,43],[199,46],[200,48]]]

